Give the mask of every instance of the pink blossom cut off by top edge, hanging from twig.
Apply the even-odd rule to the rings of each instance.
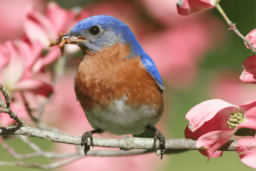
[[[177,2],[177,10],[180,15],[190,15],[209,10],[218,3],[219,0],[179,0]]]

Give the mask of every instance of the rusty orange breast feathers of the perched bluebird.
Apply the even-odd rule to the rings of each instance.
[[[127,97],[126,105],[142,105],[163,112],[162,93],[140,57],[127,58],[129,45],[118,42],[100,52],[84,51],[75,76],[75,93],[84,111],[104,109],[113,100]]]

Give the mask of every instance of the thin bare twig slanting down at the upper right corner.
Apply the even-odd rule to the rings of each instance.
[[[246,44],[248,45],[248,47],[250,47],[250,49],[253,52],[256,52],[256,49],[253,47],[252,42],[250,40],[248,40],[247,38],[245,38],[236,28],[236,23],[233,24],[232,21],[230,21],[228,19],[228,16],[225,14],[225,12],[223,11],[223,9],[221,8],[221,6],[219,4],[216,5],[217,10],[221,13],[221,15],[223,16],[223,18],[226,20],[226,22],[229,25],[229,30],[232,30],[234,33],[236,33],[240,38],[242,38]]]

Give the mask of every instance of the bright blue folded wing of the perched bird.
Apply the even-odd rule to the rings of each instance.
[[[147,55],[146,53],[142,54],[141,61],[144,64],[144,66],[147,68],[147,71],[154,77],[154,79],[158,83],[159,88],[163,89],[164,87],[163,87],[160,73],[158,72],[156,65],[155,65],[154,61],[151,59],[151,57],[149,55]]]

